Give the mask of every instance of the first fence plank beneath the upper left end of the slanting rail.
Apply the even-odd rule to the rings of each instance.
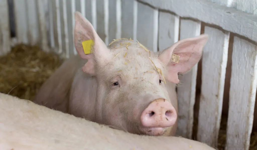
[[[142,3],[138,3],[137,7],[137,40],[157,52],[159,11]]]

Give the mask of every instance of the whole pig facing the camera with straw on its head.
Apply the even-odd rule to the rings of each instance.
[[[93,41],[91,53],[83,49],[87,40]],[[42,85],[34,102],[133,134],[173,136],[178,73],[200,60],[207,40],[206,34],[183,39],[161,52],[125,38],[106,46],[92,24],[75,12],[78,55]]]

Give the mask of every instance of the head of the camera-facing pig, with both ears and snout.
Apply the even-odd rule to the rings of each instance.
[[[178,73],[200,60],[208,36],[181,40],[162,52],[149,51],[131,39],[114,40],[107,47],[79,12],[75,21],[76,50],[87,59],[82,70],[97,79],[96,122],[134,134],[170,131],[177,123]],[[82,42],[89,39],[94,41],[92,53],[85,54]],[[180,56],[178,63],[173,54]]]

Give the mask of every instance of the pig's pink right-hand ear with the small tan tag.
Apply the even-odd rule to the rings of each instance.
[[[201,59],[203,47],[208,40],[207,34],[183,39],[159,53],[159,60],[166,65],[170,82],[179,83],[178,73],[190,70]],[[171,60],[172,54],[180,56],[178,63]]]

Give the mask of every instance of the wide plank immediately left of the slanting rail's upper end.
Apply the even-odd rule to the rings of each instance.
[[[121,37],[136,40],[137,2],[121,0]]]

